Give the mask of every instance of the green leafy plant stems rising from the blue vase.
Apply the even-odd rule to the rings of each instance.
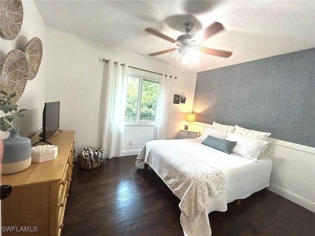
[[[11,104],[11,98],[15,97],[16,95],[15,92],[12,92],[11,94],[7,95],[5,91],[1,90],[0,94],[1,94],[0,95],[0,110],[3,111],[4,114],[8,114],[8,113],[11,114],[4,117],[0,117],[0,130],[4,132],[9,131],[9,130],[15,130],[16,129],[15,118],[24,117],[24,114],[22,112],[26,111],[27,109],[18,110],[18,105]]]

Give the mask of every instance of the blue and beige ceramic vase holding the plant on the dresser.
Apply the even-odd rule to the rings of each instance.
[[[31,140],[19,136],[19,130],[9,130],[3,139],[2,174],[13,174],[30,167],[32,162]]]

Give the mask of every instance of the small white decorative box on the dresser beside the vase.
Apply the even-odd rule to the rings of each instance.
[[[54,160],[58,155],[58,147],[55,145],[38,145],[32,148],[32,162],[40,163]]]

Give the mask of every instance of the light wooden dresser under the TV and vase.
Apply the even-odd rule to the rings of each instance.
[[[74,133],[56,131],[49,138],[58,146],[54,160],[32,163],[24,171],[2,175],[1,184],[12,185],[10,196],[1,201],[2,236],[61,235],[73,168]],[[32,143],[36,141],[38,135]]]

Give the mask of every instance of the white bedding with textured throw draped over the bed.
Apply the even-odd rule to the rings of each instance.
[[[267,187],[272,166],[268,157],[253,162],[201,145],[198,139],[150,141],[137,156],[136,167],[143,169],[144,162],[181,200],[185,236],[210,236],[208,214],[226,211],[227,203]]]

